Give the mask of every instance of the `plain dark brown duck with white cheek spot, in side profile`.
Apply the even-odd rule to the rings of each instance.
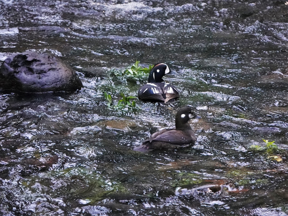
[[[135,151],[147,152],[153,149],[178,148],[186,146],[196,141],[196,136],[188,121],[196,116],[190,107],[182,107],[178,110],[175,117],[176,129],[163,129],[152,134],[141,146],[134,148]]]

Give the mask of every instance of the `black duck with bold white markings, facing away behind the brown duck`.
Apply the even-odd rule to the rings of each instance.
[[[166,64],[156,64],[150,71],[148,83],[139,88],[138,98],[146,101],[162,101],[164,103],[171,99],[179,98],[177,88],[162,79],[169,72],[170,69]]]

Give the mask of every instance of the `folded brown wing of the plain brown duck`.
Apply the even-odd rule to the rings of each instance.
[[[165,141],[175,145],[187,145],[191,142],[195,142],[196,136],[193,131],[191,131],[191,133],[187,133],[185,131],[171,130],[158,135],[157,137],[153,138],[152,141]]]

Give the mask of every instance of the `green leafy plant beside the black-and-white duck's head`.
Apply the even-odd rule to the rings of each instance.
[[[142,66],[139,66],[139,61],[136,61],[132,66],[129,68],[126,68],[124,70],[116,70],[113,71],[114,75],[116,76],[142,76],[144,74],[149,74],[151,69],[153,68],[154,65],[149,65],[149,68],[143,68]]]

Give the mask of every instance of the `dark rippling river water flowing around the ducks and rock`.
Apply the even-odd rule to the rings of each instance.
[[[0,0],[0,63],[50,52],[79,92],[0,92],[0,215],[288,214],[286,1]],[[177,102],[115,109],[164,62]],[[195,145],[133,151],[190,105]],[[262,140],[275,141],[278,150]]]

